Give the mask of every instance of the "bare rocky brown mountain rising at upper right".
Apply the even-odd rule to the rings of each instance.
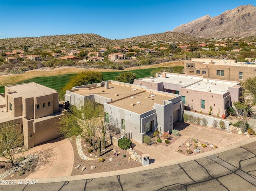
[[[211,17],[182,24],[172,32],[201,38],[250,37],[256,35],[256,6],[243,5]]]

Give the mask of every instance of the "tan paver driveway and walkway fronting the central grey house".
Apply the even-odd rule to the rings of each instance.
[[[136,150],[142,152],[143,154],[149,154],[151,159],[154,159],[154,163],[162,163],[170,160],[176,160],[186,156],[184,154],[175,152],[182,143],[184,143],[188,138],[197,138],[200,141],[209,142],[218,145],[218,148],[224,148],[226,146],[242,142],[243,140],[249,139],[247,136],[231,134],[228,132],[216,130],[213,128],[197,126],[193,124],[186,124],[183,122],[176,122],[174,124],[174,129],[179,130],[182,135],[174,143],[170,144],[168,147],[161,145],[158,146],[146,146],[140,144],[134,140]]]

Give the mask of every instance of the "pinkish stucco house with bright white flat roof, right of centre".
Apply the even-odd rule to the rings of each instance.
[[[156,77],[135,79],[134,84],[181,95],[187,109],[208,113],[212,106],[212,113],[216,115],[220,109],[220,116],[227,115],[227,108],[232,106],[232,102],[240,100],[242,95],[242,86],[238,81],[176,73],[157,73]]]

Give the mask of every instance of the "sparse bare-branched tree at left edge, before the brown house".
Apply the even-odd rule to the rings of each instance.
[[[21,128],[16,126],[15,122],[6,122],[0,125],[0,152],[6,151],[3,158],[5,163],[14,165],[14,156],[12,149],[23,145],[23,133]]]

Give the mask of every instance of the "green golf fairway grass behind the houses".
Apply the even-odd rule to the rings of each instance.
[[[131,70],[129,72],[136,73],[136,78],[142,78],[142,77],[148,77],[150,76],[150,72],[152,69],[141,69],[141,70]],[[117,71],[117,72],[103,72],[103,79],[106,80],[114,80],[116,76],[118,76],[122,72],[127,71]],[[64,87],[70,77],[74,74],[66,74],[66,75],[59,75],[59,76],[50,76],[50,77],[36,77],[29,80],[22,81],[20,83],[29,83],[29,82],[35,82],[44,86],[47,86],[52,89],[56,89],[57,91],[60,90],[60,88]],[[0,93],[4,93],[4,87],[0,87]]]

